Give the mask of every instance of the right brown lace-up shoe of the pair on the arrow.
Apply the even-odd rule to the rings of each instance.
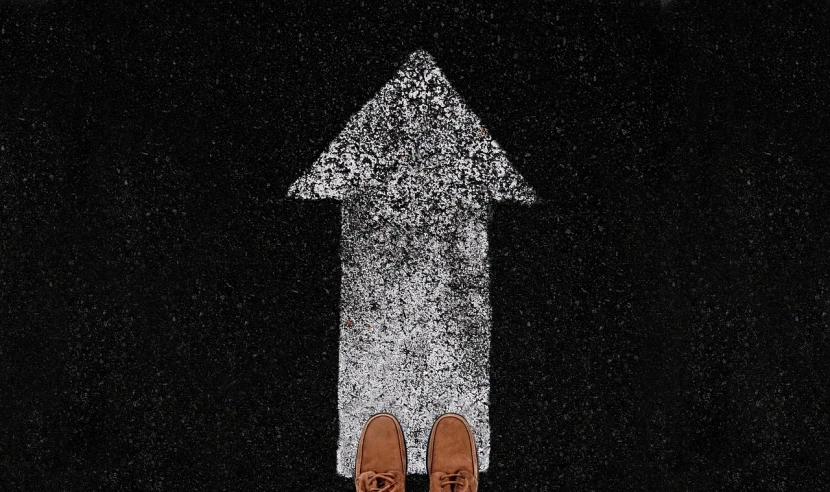
[[[478,453],[470,424],[454,413],[432,426],[427,451],[429,492],[477,492]]]

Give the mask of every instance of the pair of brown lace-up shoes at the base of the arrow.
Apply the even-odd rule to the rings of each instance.
[[[427,449],[430,492],[477,492],[478,454],[470,424],[454,413],[432,426]],[[360,434],[355,462],[357,492],[405,492],[406,446],[398,420],[381,413]]]

